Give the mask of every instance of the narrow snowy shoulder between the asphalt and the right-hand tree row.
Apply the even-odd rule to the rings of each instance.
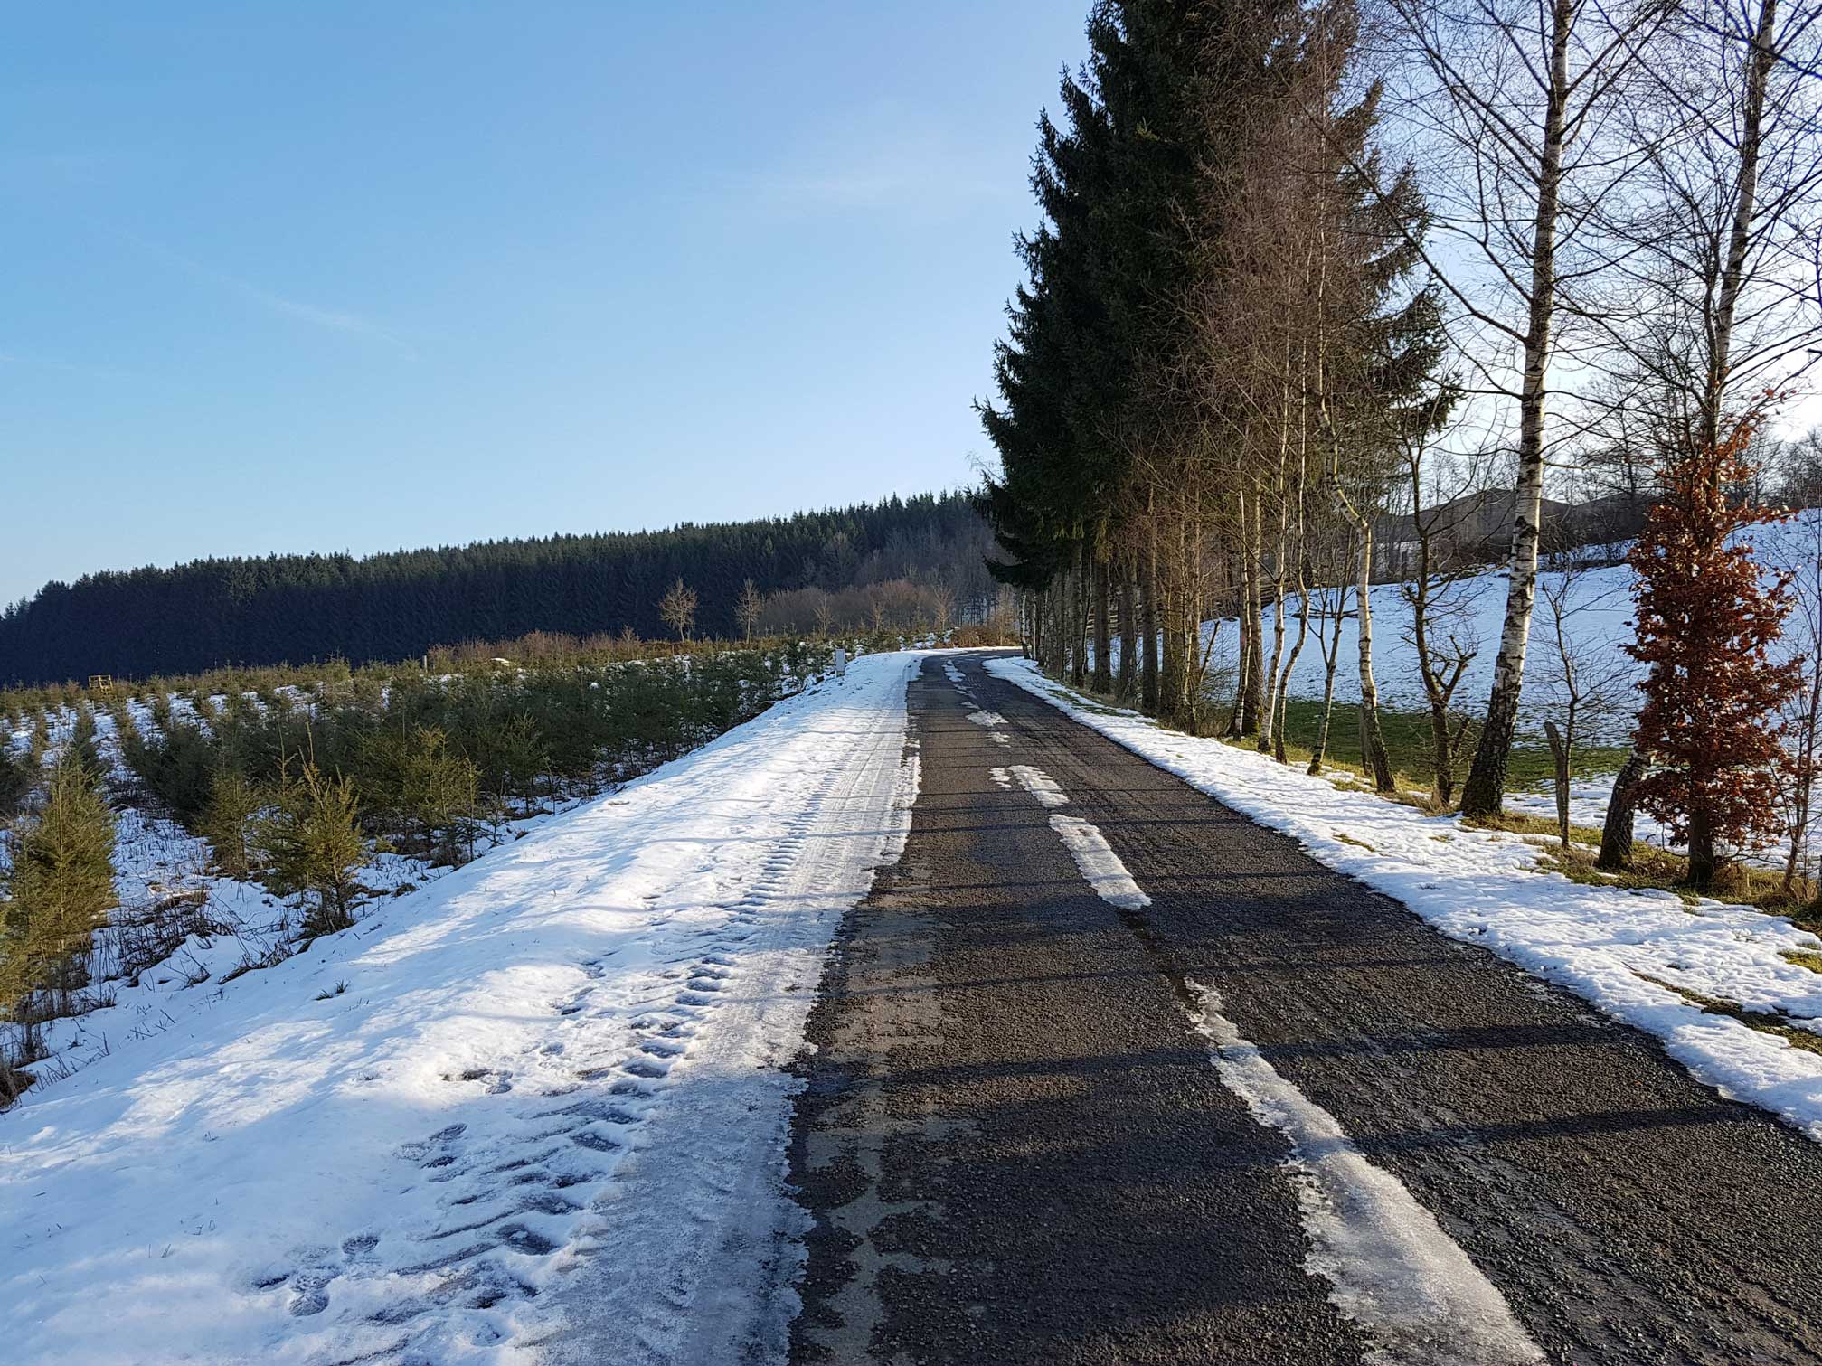
[[[1518,836],[1337,789],[1261,754],[1159,727],[1080,698],[1028,659],[988,670],[1261,825],[1294,836],[1321,863],[1408,905],[1441,933],[1578,993],[1660,1038],[1724,1095],[1782,1116],[1822,1142],[1822,1055],[1682,993],[1778,1016],[1822,1035],[1822,974],[1786,954],[1822,940],[1782,916],[1671,892],[1587,887],[1540,867]],[[1674,987],[1674,989],[1673,989]]]

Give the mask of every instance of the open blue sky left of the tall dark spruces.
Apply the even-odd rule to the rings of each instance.
[[[966,483],[1084,11],[7,5],[0,603]]]

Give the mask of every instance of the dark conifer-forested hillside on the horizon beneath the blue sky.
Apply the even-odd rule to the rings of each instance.
[[[993,596],[991,546],[964,494],[926,494],[663,532],[89,574],[0,614],[0,683],[328,656],[359,665],[532,630],[663,636],[658,601],[680,577],[698,594],[694,630],[711,636],[738,634],[749,579],[778,610],[805,616],[778,627],[862,625],[882,603],[913,597],[927,619],[973,619]]]

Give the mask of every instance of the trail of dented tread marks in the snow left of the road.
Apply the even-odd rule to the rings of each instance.
[[[514,1304],[537,1300],[552,1266],[574,1269],[618,1251],[612,1211],[625,1195],[616,1177],[650,1146],[649,1122],[680,1086],[670,1073],[698,1060],[705,1036],[712,1042],[718,1011],[729,1002],[802,985],[773,980],[776,965],[769,960],[785,953],[783,942],[793,934],[778,909],[814,891],[805,852],[814,836],[829,832],[831,805],[851,798],[855,787],[855,767],[838,765],[816,780],[758,863],[758,876],[727,905],[720,923],[672,929],[674,912],[656,914],[647,927],[656,958],[650,971],[612,978],[612,954],[583,962],[589,984],[554,1004],[558,1038],[541,1049],[547,1062],[567,1067],[568,1080],[527,1087],[527,1107],[505,1138],[494,1133],[476,1146],[470,1126],[452,1124],[399,1149],[401,1162],[425,1173],[421,1180],[445,1188],[435,1200],[443,1218],[404,1235],[417,1253],[383,1268],[374,1253],[379,1233],[357,1231],[339,1248],[295,1249],[290,1259],[295,1269],[268,1273],[253,1290],[288,1286],[292,1315],[312,1317],[330,1308],[335,1282],[348,1277],[390,1271],[406,1284],[419,1282],[372,1313],[366,1331],[355,1330],[359,1359],[390,1362],[425,1353],[435,1359],[439,1350],[503,1342],[508,1333],[499,1317]],[[814,863],[822,867],[827,860]],[[745,1038],[742,1025],[751,1025],[751,1018],[734,1024]],[[771,1045],[778,1062],[789,1056],[783,1038]],[[448,1080],[483,1082],[488,1095],[514,1091],[507,1071]],[[578,1093],[579,1100],[550,1104]],[[709,1133],[698,1135],[689,1186],[665,1191],[683,1222],[709,1228],[709,1211],[734,1193],[734,1182],[722,1173],[749,1158],[749,1147],[738,1135],[723,1144],[714,1144]],[[530,1264],[543,1266],[534,1273]],[[667,1337],[680,1315],[700,1313],[694,1291],[680,1275],[656,1279],[649,1288],[643,1308],[652,1322],[638,1324],[634,1337],[650,1361],[692,1359],[674,1355]],[[745,1308],[758,1302],[754,1290]],[[375,1344],[374,1330],[392,1330],[390,1341]]]

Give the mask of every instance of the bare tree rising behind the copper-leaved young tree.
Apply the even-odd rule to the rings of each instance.
[[[1658,100],[1633,120],[1651,193],[1616,228],[1638,253],[1643,322],[1616,342],[1654,413],[1660,466],[1713,450],[1729,410],[1813,361],[1822,95],[1804,69],[1818,40],[1813,5],[1684,0],[1654,44]],[[1602,867],[1631,856],[1649,759],[1634,752],[1614,783]]]

